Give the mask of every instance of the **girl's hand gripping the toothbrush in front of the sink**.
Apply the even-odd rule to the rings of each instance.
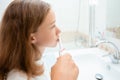
[[[60,56],[51,68],[51,80],[77,80],[78,67],[69,54]]]

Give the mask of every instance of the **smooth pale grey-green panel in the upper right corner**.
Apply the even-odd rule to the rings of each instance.
[[[120,26],[120,0],[107,0],[107,27]]]

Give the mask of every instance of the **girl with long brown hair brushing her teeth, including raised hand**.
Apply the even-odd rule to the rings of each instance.
[[[60,30],[50,5],[41,0],[13,0],[0,25],[0,80],[40,80],[37,64],[45,47],[55,47]],[[69,54],[51,68],[51,80],[77,80],[78,68]]]

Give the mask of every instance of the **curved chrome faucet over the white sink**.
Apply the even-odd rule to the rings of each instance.
[[[98,47],[102,43],[109,43],[109,44],[111,44],[115,48],[116,52],[112,56],[110,56],[110,58],[112,60],[112,63],[118,64],[119,60],[120,60],[120,52],[119,52],[118,47],[113,42],[107,41],[107,40],[102,40],[102,41],[97,42],[95,44],[95,47]]]

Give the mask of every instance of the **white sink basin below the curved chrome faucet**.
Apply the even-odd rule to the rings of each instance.
[[[97,80],[96,74],[101,74],[103,80],[120,80],[120,73],[93,53],[81,54],[73,58],[80,70],[78,80]]]

